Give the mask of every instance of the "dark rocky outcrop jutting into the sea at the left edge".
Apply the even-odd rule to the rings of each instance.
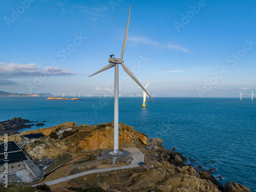
[[[0,135],[8,134],[13,135],[17,134],[19,130],[24,128],[30,128],[33,125],[42,126],[44,123],[33,124],[34,121],[29,121],[28,119],[22,119],[21,117],[14,117],[11,120],[1,121],[0,122]],[[38,121],[35,121],[38,122]],[[45,121],[42,121],[45,122]],[[32,124],[26,124],[32,123]]]

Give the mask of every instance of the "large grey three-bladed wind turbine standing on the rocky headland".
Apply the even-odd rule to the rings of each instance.
[[[118,155],[118,65],[121,64],[124,71],[141,87],[143,91],[146,92],[148,96],[150,94],[147,93],[147,91],[143,88],[142,84],[138,81],[138,79],[134,76],[134,74],[130,71],[127,66],[124,65],[123,63],[123,54],[125,50],[125,45],[126,45],[126,40],[127,40],[127,33],[128,33],[128,28],[129,28],[129,22],[130,22],[130,13],[131,13],[131,5],[130,5],[130,10],[129,10],[129,16],[127,20],[127,25],[126,25],[126,30],[125,30],[125,35],[123,39],[123,47],[121,51],[121,56],[120,59],[115,58],[115,55],[110,55],[109,62],[110,64],[101,70],[97,71],[96,73],[90,75],[89,77],[96,75],[102,71],[105,71],[107,69],[110,69],[112,67],[115,67],[115,90],[114,90],[114,154],[113,155]],[[150,98],[153,100],[153,98],[150,96]],[[154,101],[154,100],[153,100]]]

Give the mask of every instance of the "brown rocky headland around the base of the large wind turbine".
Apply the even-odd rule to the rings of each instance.
[[[59,160],[65,154],[90,154],[94,161],[59,168],[49,175],[49,180],[73,175],[85,170],[129,164],[131,157],[100,159],[102,151],[113,147],[113,122],[98,125],[76,122],[62,123],[54,127],[27,131],[9,136],[19,144],[24,144],[25,152],[35,161],[44,159]],[[45,137],[26,143],[23,136],[30,133],[42,133]],[[1,139],[1,138],[0,138]],[[194,167],[181,153],[167,150],[160,138],[149,138],[137,132],[134,127],[119,123],[119,148],[137,147],[145,155],[142,166],[130,169],[112,170],[94,173],[51,185],[51,191],[207,191],[233,192],[247,191],[249,188],[236,182],[227,182],[223,186],[211,175],[211,170]],[[80,161],[79,161],[80,162]],[[59,165],[58,165],[59,166]],[[46,169],[47,171],[47,169]],[[242,173],[241,173],[242,174]],[[48,180],[48,181],[49,181]]]

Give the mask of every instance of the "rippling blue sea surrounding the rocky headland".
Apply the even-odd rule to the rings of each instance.
[[[80,97],[83,101],[46,100],[45,97],[0,97],[0,121],[22,117],[46,121],[99,124],[114,119],[113,97]],[[194,165],[217,168],[213,175],[256,191],[256,98],[119,98],[119,122],[176,147]],[[38,129],[33,126],[31,129]],[[26,131],[28,129],[22,130]],[[215,160],[211,162],[210,160]]]

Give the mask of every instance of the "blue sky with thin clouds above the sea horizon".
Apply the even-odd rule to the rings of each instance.
[[[256,2],[20,0],[0,2],[0,90],[113,95],[123,56],[156,96],[248,97],[256,92]],[[142,91],[119,65],[119,93]]]

